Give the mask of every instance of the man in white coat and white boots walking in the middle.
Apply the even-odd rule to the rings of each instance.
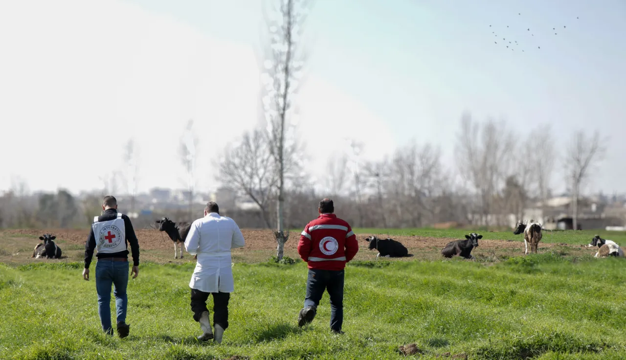
[[[198,257],[189,287],[192,289],[193,319],[200,322],[203,333],[198,340],[222,342],[228,327],[228,300],[235,289],[233,284],[230,249],[244,247],[244,235],[229,217],[220,216],[215,202],[207,203],[204,217],[195,220],[187,239],[185,250]],[[207,299],[213,294],[213,327],[208,319]]]

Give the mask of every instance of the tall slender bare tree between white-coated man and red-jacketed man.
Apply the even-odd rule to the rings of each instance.
[[[285,232],[285,173],[296,151],[296,142],[289,141],[290,110],[297,85],[302,73],[302,49],[300,38],[302,24],[307,13],[307,2],[304,0],[276,0],[279,6],[272,11],[268,19],[270,31],[269,48],[265,54],[265,73],[263,81],[266,94],[263,98],[265,120],[267,121],[270,152],[277,171],[277,231],[275,232],[277,258],[282,259],[285,242],[289,232]]]

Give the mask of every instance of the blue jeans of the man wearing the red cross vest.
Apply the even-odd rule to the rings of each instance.
[[[102,329],[113,334],[111,328],[111,284],[115,286],[117,321],[126,322],[126,285],[128,285],[128,262],[98,260],[96,262],[96,292],[98,292],[98,315]]]

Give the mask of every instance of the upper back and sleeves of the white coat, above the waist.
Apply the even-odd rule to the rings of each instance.
[[[185,239],[185,249],[192,255],[221,254],[244,245],[244,235],[235,221],[217,213],[195,220]]]

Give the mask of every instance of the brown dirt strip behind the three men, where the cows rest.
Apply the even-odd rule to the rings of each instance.
[[[87,230],[4,230],[0,231],[0,262],[23,264],[31,261],[33,248],[39,244],[39,236],[48,232],[56,235],[56,244],[61,247],[63,257],[61,261],[81,261],[84,257]],[[276,242],[270,230],[242,230],[246,245],[242,249],[233,250],[235,262],[260,262],[269,259],[275,254]],[[163,232],[158,230],[136,230],[140,244],[141,261],[151,262],[185,262],[193,260],[189,254],[183,259],[173,259],[173,242]],[[371,234],[357,234],[359,240],[359,253],[357,260],[373,260],[376,258],[376,250],[368,250],[366,237]],[[285,244],[285,254],[290,257],[298,257],[297,244],[300,239],[298,233],[292,233],[292,237]],[[381,235],[378,235],[381,236]],[[398,260],[437,260],[443,259],[440,250],[451,240],[448,238],[419,237],[419,236],[394,236],[393,239],[402,242],[409,249],[413,257]],[[580,245],[549,244],[541,242],[539,251],[552,250],[563,255],[595,254],[596,249],[586,249]],[[497,261],[503,255],[508,257],[523,255],[524,243],[513,240],[480,240],[479,247],[472,254],[479,260]],[[59,261],[59,260],[46,260]]]

